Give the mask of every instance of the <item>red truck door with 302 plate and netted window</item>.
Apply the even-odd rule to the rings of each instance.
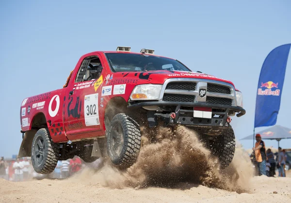
[[[81,66],[67,86],[64,98],[63,119],[69,140],[101,134],[99,103],[106,75],[98,54],[83,59]],[[72,76],[73,76],[72,75]]]

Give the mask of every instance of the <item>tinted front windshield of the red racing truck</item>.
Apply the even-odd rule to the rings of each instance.
[[[181,70],[191,71],[174,59],[135,53],[105,53],[115,72]]]

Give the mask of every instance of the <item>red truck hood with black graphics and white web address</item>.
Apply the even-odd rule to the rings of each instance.
[[[152,84],[163,84],[169,78],[199,78],[226,82],[233,85],[232,82],[217,78],[213,75],[190,71],[170,71],[170,70],[155,70],[147,72],[116,72],[113,79],[137,79],[145,80]],[[234,85],[233,85],[234,86]]]

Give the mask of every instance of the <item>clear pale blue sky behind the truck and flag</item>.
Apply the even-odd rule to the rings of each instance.
[[[288,0],[0,1],[0,156],[18,153],[24,98],[61,88],[81,55],[117,46],[154,49],[232,81],[247,113],[231,124],[238,139],[251,135],[260,68],[271,50],[291,43],[290,10]],[[290,77],[291,56],[277,119],[289,128]]]

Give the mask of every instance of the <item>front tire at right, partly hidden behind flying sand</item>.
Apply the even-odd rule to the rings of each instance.
[[[210,145],[210,150],[219,159],[221,169],[228,167],[235,152],[235,135],[232,127],[229,125],[228,129]]]

